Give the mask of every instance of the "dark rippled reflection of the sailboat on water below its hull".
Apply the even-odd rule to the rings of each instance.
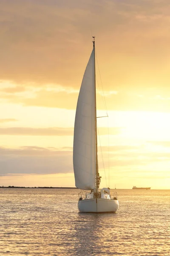
[[[75,224],[77,255],[82,255],[82,252],[84,255],[89,255],[89,252],[91,255],[100,255],[102,251],[101,255],[104,255],[109,251],[114,242],[114,237],[109,234],[111,225],[114,228],[114,215],[116,214],[79,213],[79,221]]]

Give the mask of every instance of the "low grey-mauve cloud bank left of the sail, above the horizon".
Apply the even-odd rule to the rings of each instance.
[[[73,172],[72,151],[51,148],[0,148],[0,175]]]

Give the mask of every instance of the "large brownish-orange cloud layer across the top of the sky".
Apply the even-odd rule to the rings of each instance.
[[[167,90],[168,7],[145,0],[1,0],[0,78],[78,88],[92,31],[107,90]]]

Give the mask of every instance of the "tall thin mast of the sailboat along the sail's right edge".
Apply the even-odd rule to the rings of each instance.
[[[96,141],[96,189],[99,188],[99,168],[98,168],[98,155],[97,155],[97,114],[96,114],[96,64],[95,64],[95,36],[93,36],[94,48],[94,102],[95,102],[95,141]]]

